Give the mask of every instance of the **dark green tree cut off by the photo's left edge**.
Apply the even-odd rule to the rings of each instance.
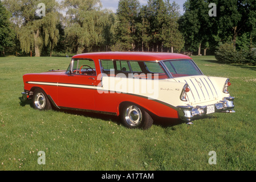
[[[14,30],[10,24],[10,14],[0,1],[0,51],[5,55],[5,48],[13,45]]]

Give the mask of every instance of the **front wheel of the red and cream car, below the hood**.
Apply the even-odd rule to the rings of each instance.
[[[32,97],[33,106],[36,110],[51,110],[51,103],[42,89],[35,89]]]

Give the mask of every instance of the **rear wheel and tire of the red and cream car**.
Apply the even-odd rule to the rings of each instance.
[[[153,125],[151,115],[141,107],[133,104],[127,104],[120,110],[121,122],[129,129],[147,130]]]

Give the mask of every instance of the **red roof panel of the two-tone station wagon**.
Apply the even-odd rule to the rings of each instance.
[[[180,53],[166,52],[92,52],[75,55],[73,59],[93,59],[93,60],[136,60],[136,61],[156,61],[170,59],[192,59]]]

